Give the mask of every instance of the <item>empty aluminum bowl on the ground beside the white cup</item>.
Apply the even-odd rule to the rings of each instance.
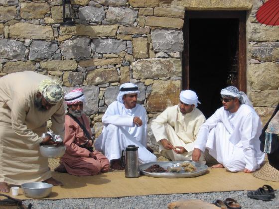
[[[30,182],[21,185],[27,198],[46,198],[51,193],[53,185],[43,182]]]

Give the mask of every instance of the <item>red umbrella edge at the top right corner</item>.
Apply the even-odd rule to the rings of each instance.
[[[268,0],[257,11],[257,20],[266,25],[279,25],[279,0]]]

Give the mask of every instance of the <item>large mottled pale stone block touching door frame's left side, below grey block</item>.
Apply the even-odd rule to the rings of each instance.
[[[141,59],[132,63],[135,79],[181,76],[180,59]]]

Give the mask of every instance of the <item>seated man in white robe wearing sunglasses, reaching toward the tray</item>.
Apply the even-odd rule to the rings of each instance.
[[[200,127],[192,159],[198,161],[205,149],[218,164],[231,172],[252,173],[265,154],[260,150],[262,122],[247,96],[236,87],[221,90],[220,107]]]

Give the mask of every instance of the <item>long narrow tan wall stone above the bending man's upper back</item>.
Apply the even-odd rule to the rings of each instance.
[[[78,65],[75,60],[41,61],[40,68],[47,71],[76,71]]]

